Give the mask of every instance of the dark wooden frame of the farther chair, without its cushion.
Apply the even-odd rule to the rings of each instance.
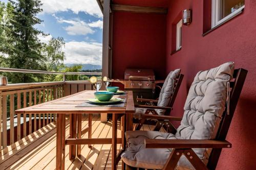
[[[170,96],[170,101],[169,101],[169,104],[167,107],[154,106],[153,103],[158,103],[158,100],[137,98],[137,101],[150,102],[150,103],[152,103],[152,105],[135,105],[136,108],[145,108],[146,110],[145,110],[144,114],[141,114],[141,119],[134,118],[134,123],[137,123],[137,125],[134,127],[134,130],[140,130],[141,127],[143,126],[143,124],[149,124],[149,125],[156,125],[154,128],[154,131],[159,131],[162,126],[166,130],[170,131],[170,128],[168,127],[168,125],[166,125],[166,123],[170,124],[168,119],[159,119],[158,122],[155,122],[155,121],[148,120],[150,116],[144,117],[144,115],[152,115],[152,119],[155,119],[153,115],[159,115],[155,109],[163,109],[163,110],[165,110],[164,115],[170,115],[170,112],[173,110],[174,101],[175,101],[178,91],[180,89],[180,85],[183,80],[183,77],[184,77],[184,75],[180,74],[177,77],[177,79],[175,80],[174,91],[173,91],[173,94]],[[152,113],[152,114],[150,114],[150,113]]]

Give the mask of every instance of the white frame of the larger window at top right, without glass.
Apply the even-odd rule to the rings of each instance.
[[[221,1],[222,0],[212,0],[211,1],[211,28],[214,28],[218,25],[221,25],[223,22],[227,21],[228,19],[232,18],[234,15],[237,15],[241,12],[245,5],[240,7],[237,11],[232,12],[231,14],[225,16],[221,20],[220,18],[220,9],[221,9]]]

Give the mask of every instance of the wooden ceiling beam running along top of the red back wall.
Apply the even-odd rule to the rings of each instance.
[[[113,11],[136,12],[136,13],[161,13],[167,14],[167,8],[140,7],[133,5],[112,4]]]

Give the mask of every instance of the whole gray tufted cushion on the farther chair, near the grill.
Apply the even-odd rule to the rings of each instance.
[[[163,83],[162,89],[160,91],[157,106],[167,107],[169,105],[170,97],[174,92],[174,82],[179,75],[180,75],[180,69],[176,69],[174,71],[169,72],[168,76],[166,77]],[[165,110],[163,109],[155,109],[155,110],[159,115],[164,115],[165,113]],[[140,114],[145,113],[145,111],[146,109],[144,108],[136,108],[134,118],[140,118]]]

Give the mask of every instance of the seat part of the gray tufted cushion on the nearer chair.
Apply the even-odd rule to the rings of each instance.
[[[125,133],[128,148],[121,155],[122,160],[132,167],[162,169],[172,149],[145,149],[144,139],[176,139],[172,133],[158,131],[127,131]],[[194,169],[185,156],[179,162],[179,169]]]

